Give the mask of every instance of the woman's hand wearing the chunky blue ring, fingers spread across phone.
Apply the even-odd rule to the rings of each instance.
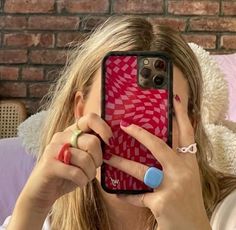
[[[179,146],[193,144],[194,130],[186,109],[175,100],[174,108]],[[211,229],[204,208],[196,155],[177,153],[164,141],[134,124],[126,124],[121,128],[152,152],[163,167],[164,178],[152,193],[118,196],[133,205],[149,208],[158,222],[158,229]],[[116,155],[105,162],[141,181],[148,169],[146,165]]]

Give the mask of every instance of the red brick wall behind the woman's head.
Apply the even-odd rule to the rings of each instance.
[[[71,41],[109,15],[137,14],[179,29],[213,53],[236,52],[236,1],[0,0],[0,98],[20,99],[28,114],[66,58]]]

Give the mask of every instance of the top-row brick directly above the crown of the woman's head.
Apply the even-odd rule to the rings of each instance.
[[[162,0],[116,0],[115,13],[163,13]]]

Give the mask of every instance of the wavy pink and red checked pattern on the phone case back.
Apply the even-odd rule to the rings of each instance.
[[[137,57],[110,56],[106,61],[105,120],[112,127],[115,148],[112,153],[148,166],[161,165],[153,155],[120,129],[124,119],[137,124],[164,141],[168,137],[168,92],[166,89],[142,89],[137,85]],[[105,165],[105,185],[112,190],[150,190],[142,181]]]

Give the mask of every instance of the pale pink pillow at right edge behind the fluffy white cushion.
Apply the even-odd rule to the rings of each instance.
[[[236,53],[225,55],[212,55],[225,74],[229,87],[229,120],[236,121]]]

